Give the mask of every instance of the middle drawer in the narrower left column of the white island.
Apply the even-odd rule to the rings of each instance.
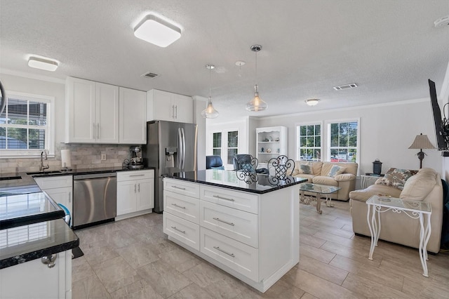
[[[163,211],[199,224],[199,199],[164,190]]]

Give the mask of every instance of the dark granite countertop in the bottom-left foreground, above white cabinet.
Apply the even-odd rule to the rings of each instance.
[[[0,230],[0,269],[78,246],[78,236],[62,218]]]

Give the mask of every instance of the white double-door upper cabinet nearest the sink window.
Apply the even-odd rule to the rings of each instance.
[[[119,87],[68,77],[65,142],[119,143]]]

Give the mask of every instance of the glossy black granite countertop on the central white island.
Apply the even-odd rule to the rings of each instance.
[[[249,183],[245,182],[245,180],[239,179],[238,171],[223,171],[220,169],[175,173],[173,175],[168,175],[167,178],[187,180],[189,182],[198,182],[199,184],[224,187],[227,189],[257,194],[272,192],[307,181],[305,178],[295,178],[292,176],[286,176],[286,178],[281,179],[272,175],[264,175],[259,173],[253,173],[253,175],[254,177],[252,182]]]

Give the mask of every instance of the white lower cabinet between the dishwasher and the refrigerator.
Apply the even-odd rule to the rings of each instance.
[[[117,218],[133,217],[142,214],[142,211],[149,213],[152,208],[154,208],[154,170],[118,172]]]

